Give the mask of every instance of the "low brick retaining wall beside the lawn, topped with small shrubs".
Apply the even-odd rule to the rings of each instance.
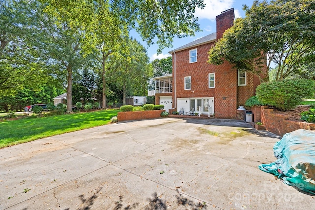
[[[126,120],[142,120],[151,118],[160,118],[165,110],[136,111],[136,112],[118,112],[117,120],[119,122]]]

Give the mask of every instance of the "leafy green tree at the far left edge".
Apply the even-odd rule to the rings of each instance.
[[[46,81],[45,64],[29,42],[30,13],[27,1],[0,2],[0,97],[24,87],[40,89]]]

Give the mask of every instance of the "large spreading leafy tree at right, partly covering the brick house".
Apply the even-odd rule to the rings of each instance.
[[[257,0],[244,10],[246,17],[237,19],[210,49],[209,63],[227,60],[263,82],[272,63],[278,80],[314,61],[315,0]]]

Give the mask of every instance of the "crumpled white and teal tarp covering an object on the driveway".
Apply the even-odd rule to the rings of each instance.
[[[277,160],[258,168],[305,192],[315,194],[315,131],[296,130],[274,145]]]

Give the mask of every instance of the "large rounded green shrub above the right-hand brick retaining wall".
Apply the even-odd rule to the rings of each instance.
[[[302,98],[311,98],[315,91],[312,80],[289,79],[261,83],[256,89],[258,100],[281,111],[294,109]]]

